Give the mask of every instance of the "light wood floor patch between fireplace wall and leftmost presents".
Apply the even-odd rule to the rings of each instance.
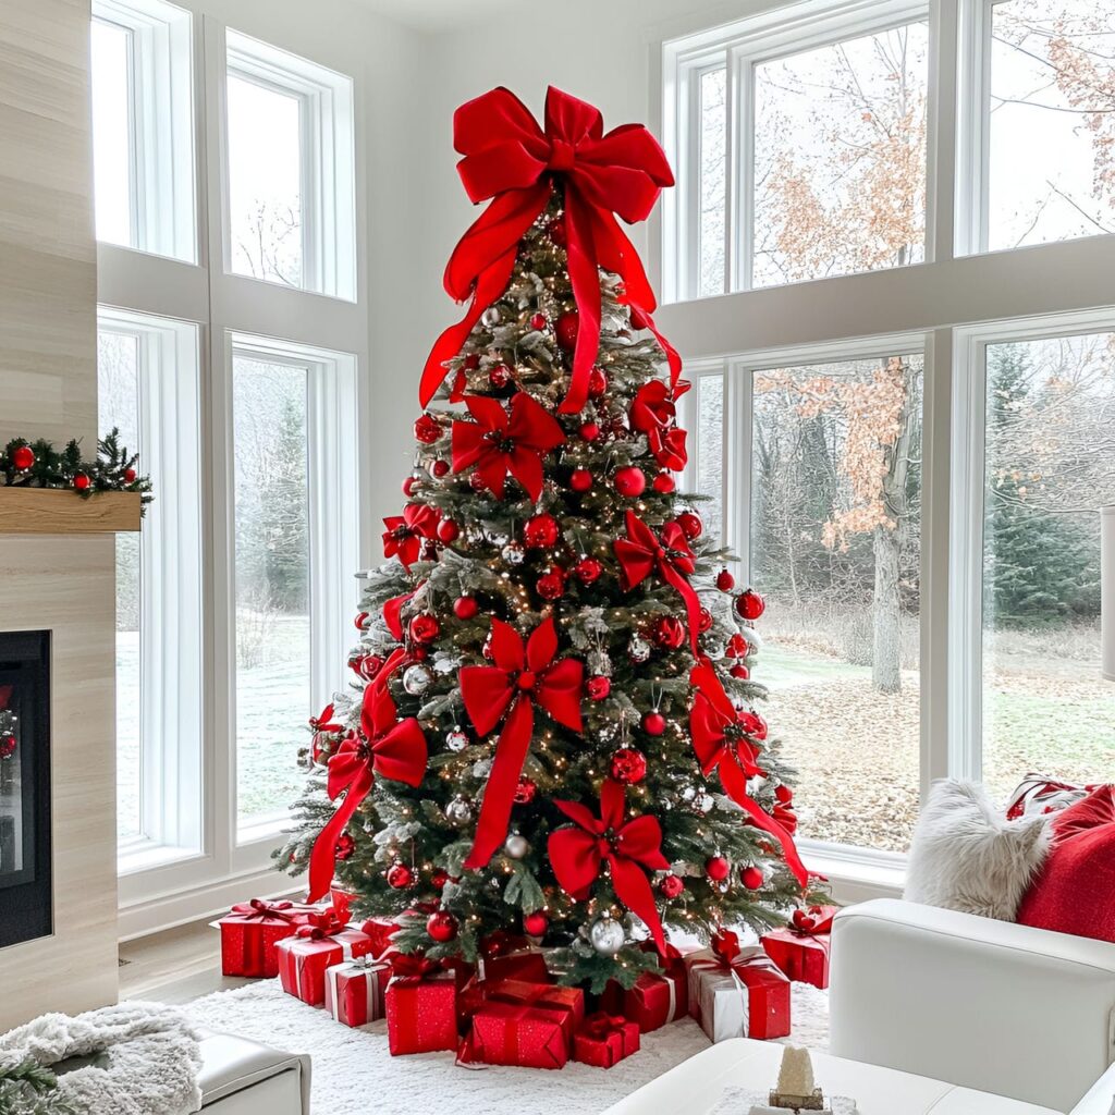
[[[122,999],[181,1004],[252,982],[221,975],[221,934],[204,921],[125,941],[119,957]]]

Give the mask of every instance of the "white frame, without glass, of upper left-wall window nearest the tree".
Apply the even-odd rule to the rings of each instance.
[[[302,283],[330,298],[355,301],[356,196],[352,79],[259,39],[225,31],[227,75],[294,97],[301,139]],[[222,188],[225,204],[224,269],[232,268],[229,220],[227,113],[221,114]],[[243,277],[251,278],[251,277]],[[274,280],[258,280],[273,282]]]

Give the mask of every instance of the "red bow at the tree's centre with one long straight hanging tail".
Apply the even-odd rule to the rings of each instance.
[[[486,736],[507,712],[495,745],[495,759],[476,821],[476,838],[465,860],[466,867],[486,866],[507,835],[515,789],[534,733],[534,706],[540,705],[571,730],[583,730],[581,682],[584,666],[575,658],[555,662],[556,652],[558,631],[552,618],[547,617],[534,629],[525,646],[522,636],[510,623],[493,619],[492,660],[495,665],[460,669],[460,696],[479,735]]]

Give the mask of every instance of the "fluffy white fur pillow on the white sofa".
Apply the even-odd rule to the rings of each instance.
[[[982,786],[947,778],[914,830],[903,898],[1014,921],[1048,851],[1046,817],[1007,821]]]

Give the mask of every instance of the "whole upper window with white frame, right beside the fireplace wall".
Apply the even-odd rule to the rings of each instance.
[[[163,0],[94,0],[97,239],[193,262],[191,16]]]

